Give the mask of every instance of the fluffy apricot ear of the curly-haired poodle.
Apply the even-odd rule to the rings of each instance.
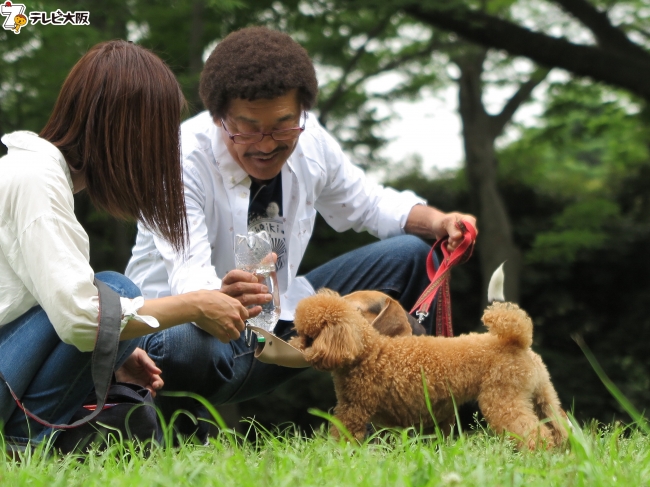
[[[320,370],[335,370],[352,363],[363,351],[359,325],[346,319],[324,327],[311,347],[304,350],[305,358]]]

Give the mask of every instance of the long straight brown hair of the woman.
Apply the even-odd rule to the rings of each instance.
[[[103,42],[72,68],[40,136],[83,174],[95,205],[141,221],[183,250],[184,108],[180,86],[160,58],[130,42]]]

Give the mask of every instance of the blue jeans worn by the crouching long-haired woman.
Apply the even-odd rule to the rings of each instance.
[[[100,272],[95,277],[122,297],[141,295],[135,284],[117,272]],[[120,342],[116,368],[139,341]],[[49,423],[68,423],[93,390],[91,358],[92,352],[80,352],[59,339],[40,306],[0,327],[0,370],[23,405]],[[2,381],[0,423],[7,442],[18,445],[37,444],[52,433],[51,428],[26,417]]]

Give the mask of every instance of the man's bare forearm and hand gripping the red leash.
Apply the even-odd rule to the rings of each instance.
[[[457,223],[463,220],[476,228],[476,218],[473,215],[458,212],[443,213],[431,206],[415,205],[406,219],[404,231],[432,240],[449,235],[447,248],[453,251],[463,241],[463,232],[457,226]]]

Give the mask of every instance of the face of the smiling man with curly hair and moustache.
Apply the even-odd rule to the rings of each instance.
[[[298,91],[291,90],[287,94],[273,99],[243,100],[237,98],[230,102],[228,114],[223,118],[228,132],[244,134],[254,132],[269,133],[297,127],[300,123],[300,104]],[[221,127],[221,120],[215,119]],[[255,144],[235,144],[228,133],[221,127],[221,136],[228,152],[237,164],[255,180],[273,179],[280,173],[282,166],[298,144],[298,138],[293,140],[274,140],[266,135]]]

